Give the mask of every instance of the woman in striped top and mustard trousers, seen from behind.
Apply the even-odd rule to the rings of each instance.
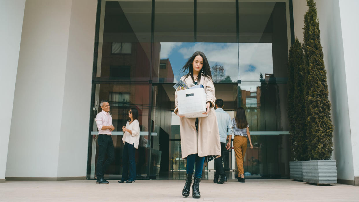
[[[243,107],[239,107],[237,109],[236,117],[232,119],[232,127],[234,134],[233,147],[238,167],[238,182],[244,182],[243,161],[247,150],[247,137],[249,139],[251,149],[253,149],[253,145],[251,135],[249,133],[249,124]],[[229,139],[230,138],[232,138],[231,135],[229,136]],[[227,148],[229,149],[230,143],[228,144]]]

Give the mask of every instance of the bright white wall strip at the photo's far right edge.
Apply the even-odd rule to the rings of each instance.
[[[346,87],[348,92],[351,148],[353,150],[354,176],[359,176],[359,94],[358,94],[358,47],[359,1],[339,0],[341,30],[344,46]],[[348,142],[349,144],[349,142]]]

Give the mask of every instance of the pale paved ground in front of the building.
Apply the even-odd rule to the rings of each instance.
[[[359,186],[316,186],[290,179],[229,180],[224,184],[202,180],[200,199],[182,197],[184,180],[109,182],[6,181],[0,183],[0,201],[359,201]]]

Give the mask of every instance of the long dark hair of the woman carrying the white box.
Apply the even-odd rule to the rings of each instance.
[[[209,66],[208,64],[208,60],[206,58],[206,56],[204,55],[204,53],[202,53],[201,51],[196,51],[195,53],[193,53],[193,55],[188,58],[188,61],[186,62],[186,64],[182,67],[182,71],[183,74],[186,74],[186,77],[185,79],[191,75],[192,77],[192,80],[195,81],[194,77],[193,77],[193,61],[195,60],[195,57],[199,55],[203,58],[203,66],[202,66],[202,69],[201,69],[201,72],[200,74],[198,74],[198,78],[197,78],[197,82],[199,83],[200,82],[200,79],[201,79],[201,73],[205,76],[205,77],[208,77],[212,80],[212,73],[211,73],[211,67]]]

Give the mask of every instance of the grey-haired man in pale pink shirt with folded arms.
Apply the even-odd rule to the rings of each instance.
[[[96,165],[96,183],[108,184],[108,181],[103,178],[108,166],[115,160],[112,131],[115,127],[112,126],[112,117],[108,113],[110,105],[107,100],[100,102],[102,111],[97,114],[95,121],[98,128],[98,159]],[[105,161],[105,154],[107,152],[107,160]]]

